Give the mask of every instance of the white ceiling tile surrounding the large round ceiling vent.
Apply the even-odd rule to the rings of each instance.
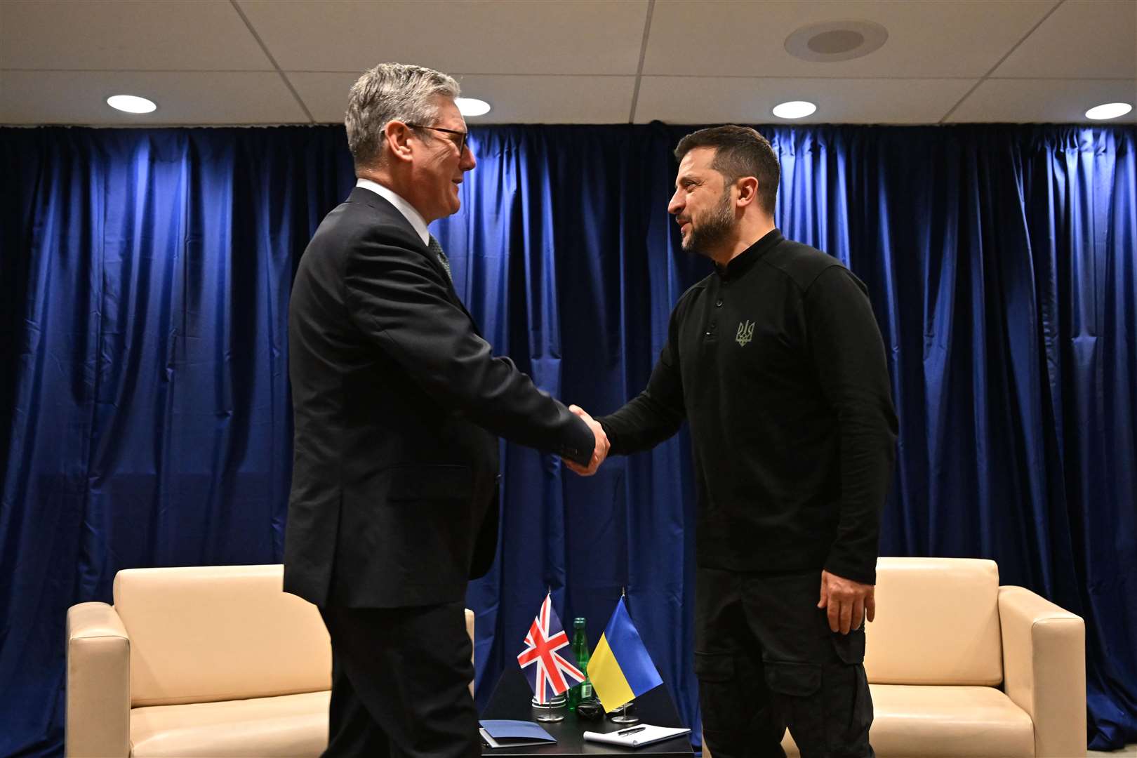
[[[657,2],[645,74],[973,77],[985,75],[1057,0]],[[810,24],[877,22],[885,45],[840,63],[799,60],[786,38]]]

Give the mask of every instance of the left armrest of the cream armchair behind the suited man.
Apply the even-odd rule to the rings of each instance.
[[[131,640],[115,609],[67,610],[67,758],[130,756]]]

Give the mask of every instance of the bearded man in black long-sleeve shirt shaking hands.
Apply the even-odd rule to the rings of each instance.
[[[804,758],[872,756],[862,620],[897,422],[866,289],[774,228],[778,157],[756,131],[702,130],[675,157],[667,210],[715,272],[675,305],[647,389],[597,420],[624,455],[690,423],[714,758],[783,756],[787,726]]]

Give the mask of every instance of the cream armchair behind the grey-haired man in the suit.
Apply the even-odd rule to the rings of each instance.
[[[139,568],[115,576],[114,606],[73,606],[66,755],[318,756],[331,644],[281,586],[280,565]]]

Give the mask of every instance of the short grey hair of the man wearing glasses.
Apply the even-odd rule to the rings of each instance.
[[[343,116],[356,167],[379,163],[388,122],[433,124],[438,118],[435,95],[453,99],[458,92],[453,76],[423,66],[387,63],[364,72],[351,85]]]

